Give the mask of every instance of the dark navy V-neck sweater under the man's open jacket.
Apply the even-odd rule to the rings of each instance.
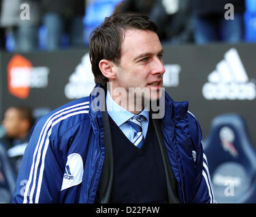
[[[109,119],[114,155],[110,203],[167,203],[163,159],[152,122],[139,149]]]

